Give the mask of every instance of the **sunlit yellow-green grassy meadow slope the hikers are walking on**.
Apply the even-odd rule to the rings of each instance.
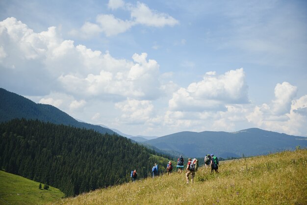
[[[204,160],[204,159],[200,159]],[[219,174],[201,167],[194,183],[173,172],[61,199],[61,205],[307,205],[307,150],[220,162]]]

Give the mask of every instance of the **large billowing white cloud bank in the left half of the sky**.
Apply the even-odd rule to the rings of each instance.
[[[25,90],[41,90],[44,95],[61,91],[78,98],[115,95],[147,100],[161,95],[159,64],[147,59],[147,53],[134,53],[133,61],[115,59],[108,51],[92,51],[61,39],[55,27],[35,33],[15,18],[0,22],[0,31],[1,53],[6,53],[0,61],[1,72],[15,75],[20,83],[9,82],[2,75],[1,83],[8,82],[8,87],[22,84]],[[76,102],[71,104],[76,106]]]

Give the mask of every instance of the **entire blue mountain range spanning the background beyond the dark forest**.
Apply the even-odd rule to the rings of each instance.
[[[70,125],[76,128],[94,129],[100,133],[117,133],[163,154],[186,157],[241,157],[294,150],[296,146],[307,147],[307,138],[284,133],[249,128],[237,132],[183,131],[162,137],[132,136],[103,125],[79,122],[58,108],[34,103],[18,94],[0,88],[0,122],[14,118],[38,119],[43,122]]]

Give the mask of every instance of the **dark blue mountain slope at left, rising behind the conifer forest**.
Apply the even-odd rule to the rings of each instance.
[[[38,119],[43,122],[50,122],[57,125],[62,124],[76,128],[94,129],[102,134],[115,133],[113,130],[108,128],[78,122],[67,113],[52,105],[34,103],[23,96],[0,88],[0,122],[7,122],[15,118]]]

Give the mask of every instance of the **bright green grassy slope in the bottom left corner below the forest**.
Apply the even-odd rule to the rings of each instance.
[[[39,182],[0,171],[0,205],[41,205],[64,197],[59,189],[49,187],[39,189]]]

